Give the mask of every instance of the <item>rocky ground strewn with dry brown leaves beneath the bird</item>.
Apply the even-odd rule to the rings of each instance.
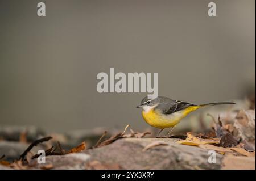
[[[65,134],[1,127],[0,169],[255,169],[255,109],[212,119],[210,130],[168,138],[128,126]]]

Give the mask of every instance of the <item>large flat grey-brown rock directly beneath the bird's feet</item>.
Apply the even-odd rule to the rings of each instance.
[[[143,148],[152,142],[168,145]],[[216,163],[208,163],[208,150],[196,146],[176,144],[176,139],[124,138],[113,144],[86,150],[91,160],[106,165],[118,164],[121,169],[220,169],[223,156],[216,154]]]

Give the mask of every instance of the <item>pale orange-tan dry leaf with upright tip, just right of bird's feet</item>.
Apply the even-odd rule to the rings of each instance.
[[[177,144],[199,146],[203,144],[218,144],[220,141],[212,139],[202,139],[192,135],[192,133],[187,132],[187,138],[185,140],[180,140],[176,142]]]

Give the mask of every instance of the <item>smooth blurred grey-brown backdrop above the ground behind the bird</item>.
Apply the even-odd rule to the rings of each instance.
[[[38,2],[0,1],[0,127],[149,127],[147,94],[97,92],[109,68],[158,72],[159,95],[198,104],[255,91],[254,0],[42,1],[45,17]]]

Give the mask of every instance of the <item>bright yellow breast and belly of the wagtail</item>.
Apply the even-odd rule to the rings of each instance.
[[[145,112],[142,111],[142,117],[152,127],[156,128],[170,128],[174,127],[176,124],[180,122],[185,116],[187,116],[190,112],[197,110],[200,106],[190,106],[185,110],[177,111],[172,113],[171,115],[163,115],[158,113],[154,109]]]

